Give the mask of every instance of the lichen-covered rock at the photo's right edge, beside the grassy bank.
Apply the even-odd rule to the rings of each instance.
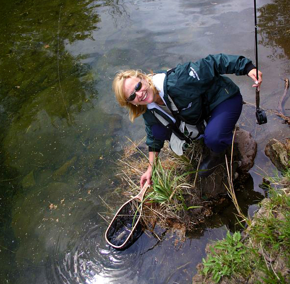
[[[289,167],[288,151],[287,146],[276,139],[271,139],[265,147],[266,156],[279,171]]]

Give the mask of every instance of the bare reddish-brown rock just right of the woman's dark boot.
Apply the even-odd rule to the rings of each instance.
[[[254,165],[254,159],[257,153],[257,142],[254,140],[250,132],[245,130],[237,130],[234,143],[237,144],[238,151],[241,155],[239,170],[246,173]]]

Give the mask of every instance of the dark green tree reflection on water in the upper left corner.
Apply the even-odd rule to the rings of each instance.
[[[73,114],[97,96],[92,81],[78,79],[90,68],[65,50],[66,41],[88,38],[97,29],[99,18],[92,13],[96,6],[90,5],[93,1],[73,2],[16,1],[0,12],[0,101],[5,122],[0,125],[1,153],[4,163],[23,175],[33,169],[31,163],[51,166],[51,154],[45,154],[55,154],[53,144],[61,144],[56,141],[61,137],[47,138],[59,136],[59,128],[72,125]],[[39,157],[22,157],[27,152]]]

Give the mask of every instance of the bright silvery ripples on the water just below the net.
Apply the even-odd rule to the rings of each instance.
[[[131,267],[139,267],[144,252],[144,242],[137,241],[125,251],[117,251],[107,245],[103,233],[106,224],[89,223],[82,236],[71,239],[67,249],[61,252],[62,232],[55,245],[55,252],[48,258],[48,283],[136,283]],[[65,239],[65,238],[64,238]],[[139,281],[140,282],[140,281]]]

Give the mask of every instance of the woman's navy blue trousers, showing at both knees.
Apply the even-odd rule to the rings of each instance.
[[[236,96],[218,104],[211,112],[205,128],[205,145],[216,153],[220,153],[232,144],[233,129],[242,112],[242,95]],[[169,130],[162,125],[153,125],[152,133],[156,139],[169,140]]]

